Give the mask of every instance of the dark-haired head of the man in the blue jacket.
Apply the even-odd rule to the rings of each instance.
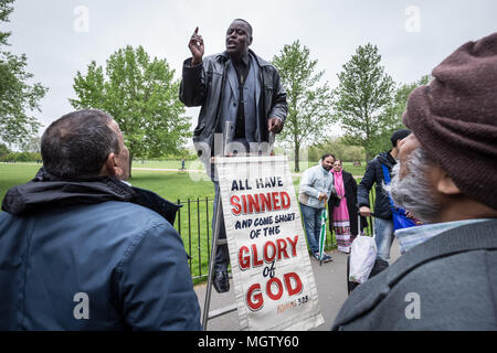
[[[63,179],[129,176],[129,152],[117,122],[101,110],[78,110],[52,122],[41,141],[44,169]]]

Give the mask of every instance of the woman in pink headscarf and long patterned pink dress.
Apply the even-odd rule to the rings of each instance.
[[[350,245],[359,234],[357,210],[357,182],[352,174],[345,171],[341,160],[335,160],[331,170],[335,178],[335,191],[328,200],[329,229],[335,231],[335,238],[340,252],[349,253]],[[347,208],[347,212],[345,212]],[[361,217],[360,229],[366,225],[366,218]]]

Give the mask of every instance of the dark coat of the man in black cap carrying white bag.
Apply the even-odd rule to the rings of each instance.
[[[376,184],[374,216],[382,220],[392,220],[392,205],[390,204],[389,195],[383,190],[384,176],[381,164],[387,165],[389,172],[391,172],[395,160],[389,152],[382,152],[368,163],[364,176],[362,176],[357,190],[357,201],[359,207],[368,206],[371,208],[369,192]]]

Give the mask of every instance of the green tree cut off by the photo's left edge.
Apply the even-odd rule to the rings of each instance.
[[[9,22],[13,0],[0,0],[0,23]],[[10,45],[10,32],[0,31],[0,139],[8,145],[21,145],[33,137],[41,124],[31,114],[40,110],[40,99],[47,88],[29,84],[33,74],[25,72],[27,56],[4,50]]]

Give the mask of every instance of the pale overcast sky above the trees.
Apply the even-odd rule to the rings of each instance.
[[[378,45],[382,65],[396,83],[417,81],[468,41],[497,31],[497,1],[404,0],[17,0],[10,51],[27,54],[28,71],[49,87],[35,116],[45,126],[73,110],[73,81],[116,50],[142,45],[181,75],[195,26],[205,55],[224,50],[235,18],[253,28],[252,50],[271,61],[284,44],[299,40],[337,85],[337,74],[358,45]],[[192,129],[199,109],[188,109]],[[340,133],[337,127],[332,135]]]

